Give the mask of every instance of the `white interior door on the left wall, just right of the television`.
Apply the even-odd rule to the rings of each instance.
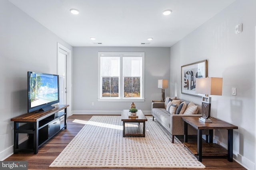
[[[66,93],[67,93],[67,87],[66,87],[66,68],[67,68],[67,52],[58,49],[58,70],[57,74],[59,75],[59,81],[60,81],[60,104],[66,104]]]

